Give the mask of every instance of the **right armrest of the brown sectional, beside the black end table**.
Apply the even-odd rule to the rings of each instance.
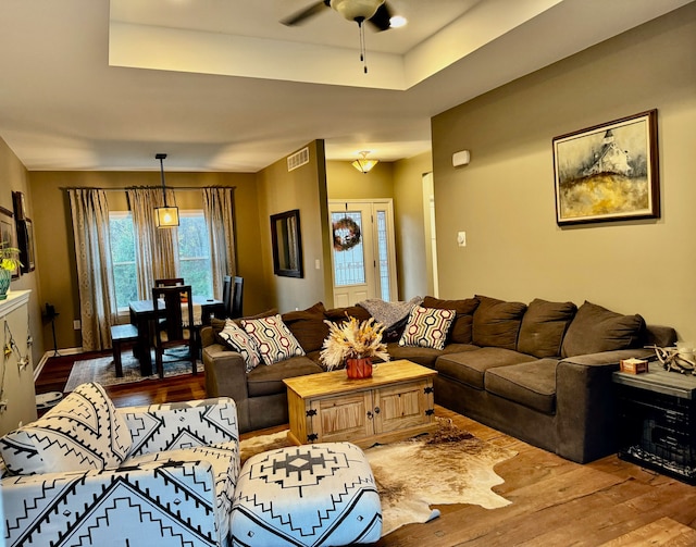
[[[617,451],[612,373],[621,359],[646,359],[649,349],[569,357],[556,368],[558,453],[585,463]]]

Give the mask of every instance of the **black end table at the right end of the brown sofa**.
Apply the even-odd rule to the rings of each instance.
[[[619,458],[696,484],[696,376],[649,363],[643,374],[614,372]]]

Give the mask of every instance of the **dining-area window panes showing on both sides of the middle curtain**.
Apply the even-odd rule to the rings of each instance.
[[[135,264],[135,237],[129,212],[109,213],[111,260],[116,293],[116,307],[127,310],[128,302],[138,300]],[[201,210],[179,211],[178,272],[191,286],[194,295],[212,296],[213,276],[208,228]]]

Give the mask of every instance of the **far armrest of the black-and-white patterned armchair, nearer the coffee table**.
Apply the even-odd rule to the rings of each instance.
[[[237,406],[228,397],[116,409],[126,421],[129,457],[239,440]]]

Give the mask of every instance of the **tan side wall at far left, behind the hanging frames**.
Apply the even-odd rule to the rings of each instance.
[[[0,138],[0,207],[9,211],[13,211],[12,206],[12,192],[24,192],[26,201],[26,213],[32,221],[34,221],[34,228],[36,231],[36,224],[38,222],[38,212],[32,206],[32,189],[28,183],[28,172],[17,159],[14,152],[8,147],[4,140]],[[34,235],[35,244],[37,240],[36,234]],[[29,296],[29,328],[34,343],[32,345],[32,361],[34,368],[39,363],[45,351],[45,344],[41,332],[41,299],[39,298],[38,283],[40,260],[35,257],[36,269],[34,272],[22,274],[18,279],[13,281],[10,284],[10,290],[30,290]],[[15,340],[17,345],[24,350],[25,340]],[[46,345],[46,347],[52,347]],[[12,386],[4,386],[5,393],[11,393]]]

